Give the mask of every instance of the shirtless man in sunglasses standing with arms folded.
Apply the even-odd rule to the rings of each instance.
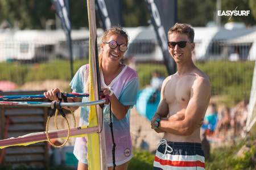
[[[161,101],[151,127],[164,133],[154,160],[154,169],[204,169],[200,124],[210,100],[210,82],[192,61],[194,30],[176,23],[168,31],[168,50],[177,73],[162,85]]]

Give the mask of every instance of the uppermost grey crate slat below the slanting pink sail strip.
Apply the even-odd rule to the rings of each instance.
[[[10,154],[43,154],[44,146],[21,146],[21,147],[9,147],[5,149],[6,155]]]

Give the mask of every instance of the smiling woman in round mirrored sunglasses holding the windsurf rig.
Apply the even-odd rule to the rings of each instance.
[[[123,65],[121,60],[127,50],[128,36],[122,28],[113,27],[104,32],[101,41],[101,53],[99,55],[101,88],[105,95],[111,96],[111,109],[113,113],[113,132],[115,140],[115,169],[127,169],[128,162],[132,158],[130,136],[130,108],[136,102],[138,92],[138,76],[130,67]],[[73,92],[88,92],[89,66],[80,67],[72,79],[70,86]],[[45,96],[51,100],[57,100],[55,95],[59,89],[45,92]],[[69,102],[79,101],[77,98],[69,99]],[[82,101],[88,101],[83,98]],[[73,110],[77,108],[71,108]],[[88,125],[88,107],[82,107],[80,125]],[[110,133],[109,105],[104,107],[104,126],[106,138],[106,163],[108,169],[113,169],[112,163],[112,136]],[[79,160],[77,169],[88,169],[86,159],[86,138],[76,138],[74,154]]]

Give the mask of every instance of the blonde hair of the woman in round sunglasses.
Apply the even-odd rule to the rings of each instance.
[[[125,37],[126,45],[128,45],[129,37],[128,37],[128,34],[125,31],[125,29],[123,29],[122,27],[111,27],[111,28],[107,29],[102,35],[101,45],[103,45],[105,42],[107,42],[109,37],[112,35],[119,35],[119,36]],[[101,51],[100,54],[98,54],[98,63],[99,63],[100,71],[101,71],[101,67],[102,67],[102,57],[103,57],[103,54]],[[85,91],[89,92],[89,76],[88,76],[88,79],[85,84]]]

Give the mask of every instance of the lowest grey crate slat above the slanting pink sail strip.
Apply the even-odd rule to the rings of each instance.
[[[9,131],[44,131],[45,127],[42,124],[11,124]]]

